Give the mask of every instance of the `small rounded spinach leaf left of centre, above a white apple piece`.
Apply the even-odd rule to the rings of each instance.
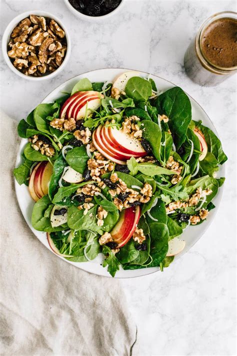
[[[76,172],[83,173],[87,167],[87,161],[89,157],[87,156],[86,149],[84,146],[75,147],[68,151],[66,154],[66,162],[71,168]]]

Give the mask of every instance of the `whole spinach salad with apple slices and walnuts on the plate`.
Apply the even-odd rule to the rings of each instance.
[[[208,219],[227,157],[181,88],[158,89],[132,71],[113,83],[84,78],[19,122],[27,142],[14,176],[56,254],[102,253],[111,276],[120,266],[162,271],[183,250],[183,230]]]

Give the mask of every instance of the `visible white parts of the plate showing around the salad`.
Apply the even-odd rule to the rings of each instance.
[[[51,103],[58,97],[62,96],[61,92],[70,92],[72,87],[81,79],[81,78],[88,78],[91,82],[104,82],[104,81],[113,81],[116,76],[118,76],[120,73],[128,71],[128,69],[99,69],[87,73],[83,73],[81,75],[78,75],[74,78],[69,79],[65,83],[61,84],[59,87],[54,89],[50,94],[46,96],[46,98],[42,101],[42,103]],[[148,73],[140,72],[140,76],[142,77],[147,77]],[[162,79],[160,77],[150,75],[150,78],[152,78],[158,88],[158,90],[166,91],[167,89],[170,89],[174,87],[174,84],[166,81],[165,79]],[[197,102],[195,102],[194,99],[192,99],[189,96],[189,99],[191,101],[191,106],[192,106],[192,118],[193,120],[201,120],[203,124],[207,127],[209,127],[216,135],[216,130],[208,118],[207,114],[204,112],[204,110],[200,107]],[[26,139],[22,139],[16,159],[16,166],[18,166],[21,162],[21,153],[23,151],[23,147],[25,143],[27,142]],[[219,177],[224,176],[224,167],[220,166],[219,167],[219,172],[218,172]],[[18,199],[18,203],[21,209],[21,212],[23,214],[23,217],[25,218],[29,228],[32,230],[34,235],[39,239],[39,241],[44,244],[50,251],[51,248],[48,245],[47,239],[46,239],[46,233],[44,232],[39,232],[33,229],[31,225],[31,212],[32,208],[34,205],[34,202],[32,201],[28,188],[25,185],[18,185],[18,183],[15,181],[15,190],[16,190],[16,196]],[[214,215],[217,211],[217,208],[220,203],[222,195],[222,187],[219,189],[218,194],[215,196],[213,199],[213,203],[216,206],[215,209],[211,210],[207,220],[203,221],[202,224],[197,225],[197,226],[190,226],[180,236],[181,239],[185,240],[186,245],[184,250],[175,257],[175,260],[180,258],[185,252],[187,252],[193,245],[196,243],[199,238],[203,235],[207,227],[210,225],[210,223],[214,219]],[[54,253],[54,252],[52,252]],[[68,260],[65,260],[63,257],[58,256],[59,258],[62,258],[64,261],[67,263],[71,263],[74,266],[81,268],[87,272],[91,272],[94,274],[102,275],[102,276],[110,276],[109,273],[105,268],[103,268],[100,263],[102,261],[102,256],[97,256],[96,259],[94,259],[91,262],[70,262]],[[173,262],[174,263],[174,262]],[[173,263],[168,267],[168,268],[173,268]],[[137,269],[137,270],[123,270],[120,268],[119,271],[116,272],[115,278],[131,278],[131,277],[138,277],[138,276],[143,276],[146,274],[154,273],[157,270],[159,270],[158,267],[151,267],[151,268],[143,268],[143,269]]]

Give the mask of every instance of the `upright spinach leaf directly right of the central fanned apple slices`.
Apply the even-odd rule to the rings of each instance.
[[[143,130],[142,137],[149,142],[153,155],[160,161],[161,130],[159,126],[152,121],[142,120],[140,127]]]

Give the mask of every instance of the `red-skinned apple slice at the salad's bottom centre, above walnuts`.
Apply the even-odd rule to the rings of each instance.
[[[120,212],[119,220],[110,231],[112,239],[116,242],[117,248],[124,246],[131,238],[140,218],[140,207],[136,206],[123,209]]]

